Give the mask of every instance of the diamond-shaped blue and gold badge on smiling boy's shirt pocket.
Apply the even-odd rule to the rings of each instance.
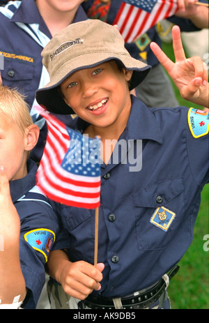
[[[167,231],[175,216],[175,213],[171,212],[169,209],[166,209],[164,206],[157,207],[152,218],[150,218],[150,223],[153,223],[153,225]]]

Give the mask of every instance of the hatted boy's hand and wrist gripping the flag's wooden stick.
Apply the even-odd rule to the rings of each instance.
[[[88,262],[70,262],[63,250],[54,250],[49,254],[47,272],[61,283],[66,294],[77,299],[86,299],[93,290],[100,290],[101,271],[104,264],[95,268]]]

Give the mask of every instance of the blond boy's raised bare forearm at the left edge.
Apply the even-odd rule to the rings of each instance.
[[[3,167],[0,167],[0,308],[26,296],[24,276],[20,266],[20,217],[10,197],[10,187]]]

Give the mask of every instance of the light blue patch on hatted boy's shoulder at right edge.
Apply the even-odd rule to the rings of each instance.
[[[208,135],[209,132],[209,113],[203,110],[190,107],[188,111],[189,129],[194,138]]]

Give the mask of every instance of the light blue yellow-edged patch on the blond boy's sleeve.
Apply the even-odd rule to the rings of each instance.
[[[45,261],[47,262],[49,251],[55,240],[54,232],[47,229],[31,230],[24,234],[24,239],[33,249],[42,253],[45,257]]]

